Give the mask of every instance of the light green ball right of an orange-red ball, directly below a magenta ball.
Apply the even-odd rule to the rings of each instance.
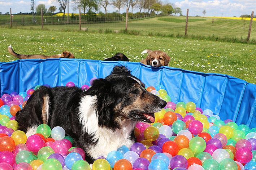
[[[201,153],[206,148],[206,142],[201,137],[194,137],[189,141],[189,149],[193,153]]]

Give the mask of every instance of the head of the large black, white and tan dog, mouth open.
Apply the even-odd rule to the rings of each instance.
[[[154,113],[166,105],[124,66],[114,67],[105,79],[94,80],[84,95],[97,96],[99,124],[109,128],[121,128],[126,120],[153,123]]]

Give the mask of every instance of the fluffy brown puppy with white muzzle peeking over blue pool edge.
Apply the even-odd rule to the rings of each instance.
[[[161,66],[168,66],[170,62],[170,57],[167,53],[156,50],[144,50],[141,54],[148,53],[148,57],[142,59],[140,63],[145,65],[150,65],[152,67],[161,67]]]

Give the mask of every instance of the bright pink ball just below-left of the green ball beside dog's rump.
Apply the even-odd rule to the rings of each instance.
[[[26,146],[32,152],[38,152],[44,146],[44,141],[38,135],[31,135],[27,138]]]

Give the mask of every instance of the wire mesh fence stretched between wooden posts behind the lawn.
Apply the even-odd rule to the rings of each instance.
[[[190,13],[193,13],[190,12]],[[59,15],[59,16],[58,16]],[[0,15],[0,27],[79,31],[79,14],[54,16]],[[12,18],[12,19],[10,19]],[[186,16],[170,14],[128,13],[128,32],[135,35],[184,36]],[[212,39],[247,40],[251,24],[250,40],[256,42],[256,18],[200,17],[188,14],[187,36]],[[10,22],[12,21],[12,22]],[[43,24],[43,27],[42,27]],[[81,27],[89,32],[125,32],[126,13],[81,14]]]

